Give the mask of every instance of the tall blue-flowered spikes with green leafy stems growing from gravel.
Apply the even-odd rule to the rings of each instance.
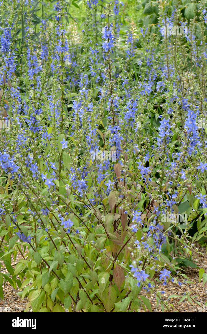
[[[1,3],[0,297],[8,281],[26,311],[133,312],[155,293],[168,311],[160,284],[188,286],[205,256],[204,4],[147,3],[156,33],[118,0],[72,4]],[[162,33],[177,22],[187,35]]]

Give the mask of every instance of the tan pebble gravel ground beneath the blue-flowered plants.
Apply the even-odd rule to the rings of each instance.
[[[206,254],[205,248],[200,248],[200,251],[203,254]],[[207,254],[206,254],[207,255]],[[21,255],[16,257],[16,260],[21,258]],[[201,258],[202,264],[204,268],[207,270],[207,259]],[[12,263],[14,265],[14,262]],[[196,304],[195,301],[200,302],[201,304],[205,304],[207,302],[207,283],[203,286],[203,280],[199,283],[197,268],[183,268],[186,272],[185,274],[189,277],[189,280],[193,282],[193,284],[188,284],[188,287],[185,284],[182,284],[181,287],[173,284],[172,282],[168,283],[166,286],[162,284],[157,284],[159,287],[159,291],[164,292],[161,295],[162,300],[167,300],[170,295],[179,295],[180,297],[184,296],[185,293],[191,291],[191,296],[196,296],[192,303],[186,298],[183,302],[180,302],[180,298],[171,298],[168,300],[167,309],[164,308],[164,312],[201,312],[199,309],[199,305]],[[6,270],[4,271],[6,272]],[[192,289],[192,290],[190,290]],[[4,300],[0,300],[0,312],[24,312],[26,308],[26,304],[28,303],[27,298],[21,300],[21,297],[17,295],[17,292],[20,291],[15,290],[9,282],[3,286],[4,291]],[[193,292],[192,292],[193,291]],[[146,292],[143,291],[143,295],[146,296]],[[147,296],[151,302],[152,312],[162,312],[161,304],[157,306],[156,295],[151,294]],[[9,308],[9,309],[8,309]],[[28,310],[28,312],[32,312],[32,310]],[[75,311],[74,311],[75,312]],[[143,308],[140,309],[140,312],[145,312]],[[147,310],[148,312],[148,310]],[[207,307],[206,307],[207,312]]]

